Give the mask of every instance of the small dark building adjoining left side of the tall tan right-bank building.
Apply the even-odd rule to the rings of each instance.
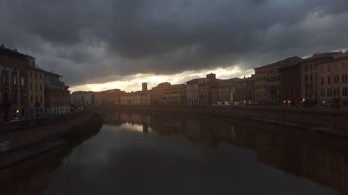
[[[255,78],[244,77],[235,80],[235,90],[233,91],[233,101],[249,103],[255,101]]]

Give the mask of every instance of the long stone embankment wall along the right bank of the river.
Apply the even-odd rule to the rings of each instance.
[[[270,122],[294,123],[303,126],[319,126],[348,130],[348,110],[326,110],[314,108],[226,106],[226,105],[113,105],[94,108],[115,110],[143,110],[185,112],[217,116],[244,117]]]

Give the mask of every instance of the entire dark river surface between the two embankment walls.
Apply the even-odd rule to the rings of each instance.
[[[338,137],[212,116],[103,115],[84,142],[0,172],[0,194],[347,193]]]

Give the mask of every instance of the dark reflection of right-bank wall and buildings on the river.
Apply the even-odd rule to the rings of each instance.
[[[340,137],[246,119],[102,112],[106,123],[141,124],[143,132],[150,127],[160,134],[182,134],[210,146],[226,142],[251,148],[264,164],[319,185],[335,187],[338,194],[348,194],[348,142]]]

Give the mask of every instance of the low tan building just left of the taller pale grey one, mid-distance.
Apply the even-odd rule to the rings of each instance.
[[[186,85],[170,85],[164,89],[163,100],[166,105],[186,105]]]

